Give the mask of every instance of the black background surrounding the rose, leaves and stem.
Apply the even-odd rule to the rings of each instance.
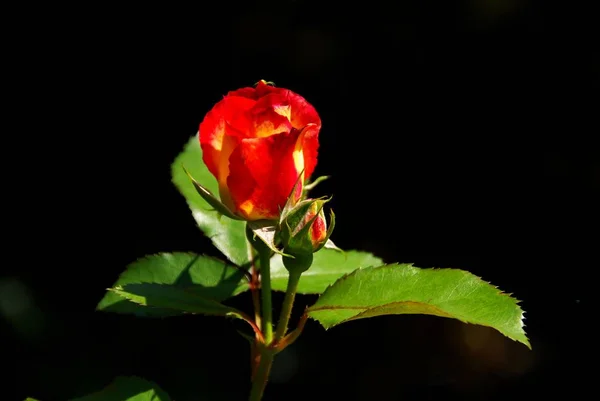
[[[595,386],[598,308],[587,288],[600,267],[600,58],[586,3],[281,0],[5,15],[18,120],[6,138],[18,144],[5,139],[16,208],[5,210],[14,227],[0,277],[0,398],[66,400],[138,375],[179,401],[246,399],[249,349],[235,323],[94,308],[138,257],[217,255],[170,163],[215,102],[259,79],[320,113],[315,176],[332,178],[316,192],[334,195],[339,246],[483,277],[522,300],[533,346],[429,316],[327,333],[311,321],[277,360],[265,400],[577,399]]]

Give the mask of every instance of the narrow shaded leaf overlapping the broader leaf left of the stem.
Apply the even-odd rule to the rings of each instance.
[[[135,304],[175,312],[203,315],[239,316],[240,312],[210,298],[205,298],[194,287],[176,287],[168,284],[138,283],[111,288],[109,291]]]

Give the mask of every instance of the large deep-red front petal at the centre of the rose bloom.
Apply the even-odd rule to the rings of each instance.
[[[243,139],[229,158],[227,186],[236,212],[248,220],[276,219],[304,168],[306,131]]]

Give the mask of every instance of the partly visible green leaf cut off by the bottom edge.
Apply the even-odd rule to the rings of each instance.
[[[156,384],[139,377],[117,377],[104,389],[71,401],[170,401]]]

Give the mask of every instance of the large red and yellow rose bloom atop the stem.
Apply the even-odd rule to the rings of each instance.
[[[320,129],[314,107],[288,89],[260,81],[229,92],[200,124],[221,202],[246,220],[277,219],[302,171],[303,183],[315,169]]]

